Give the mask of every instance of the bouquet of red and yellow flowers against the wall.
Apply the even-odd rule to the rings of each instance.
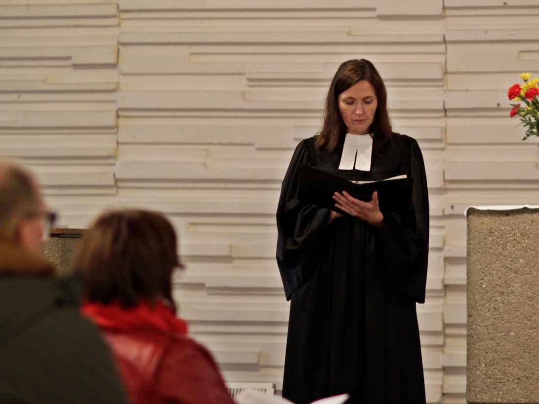
[[[519,115],[520,124],[526,127],[526,135],[522,140],[526,140],[529,136],[539,137],[539,78],[530,80],[531,72],[520,73],[520,77],[524,80],[524,84],[515,84],[509,88],[507,97],[511,101],[522,101],[518,104],[510,104],[513,109],[509,113],[510,117]],[[519,125],[520,125],[519,124]]]

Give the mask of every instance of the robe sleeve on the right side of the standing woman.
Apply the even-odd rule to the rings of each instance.
[[[416,302],[425,302],[429,257],[429,194],[423,155],[417,141],[409,140],[401,167],[414,177],[412,207],[406,214],[386,214],[383,222],[384,274],[397,290]]]

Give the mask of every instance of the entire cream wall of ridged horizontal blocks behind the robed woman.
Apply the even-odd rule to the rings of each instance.
[[[538,15],[534,0],[0,0],[0,154],[34,169],[69,227],[115,206],[167,214],[192,334],[227,380],[280,389],[280,182],[337,66],[372,60],[426,161],[427,398],[465,403],[462,212],[537,203],[536,142],[506,92],[539,75]]]

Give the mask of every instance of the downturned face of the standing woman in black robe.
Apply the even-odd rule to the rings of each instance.
[[[348,133],[354,135],[369,133],[377,106],[376,92],[367,80],[358,81],[338,95],[342,120]]]

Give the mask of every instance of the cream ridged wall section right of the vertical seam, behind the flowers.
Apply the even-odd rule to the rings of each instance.
[[[508,88],[519,73],[539,76],[539,15],[534,1],[445,0],[446,403],[464,403],[466,386],[466,218],[471,205],[535,204],[537,141],[522,142],[509,118]]]

